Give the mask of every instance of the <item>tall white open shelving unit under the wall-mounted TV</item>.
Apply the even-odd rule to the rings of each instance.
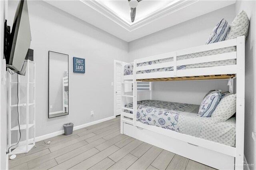
[[[14,150],[12,150],[9,154],[27,153],[35,146],[36,65],[33,61],[30,60],[27,60],[26,62],[27,69],[25,76],[18,75],[17,77],[16,73],[13,75],[8,73],[8,147],[16,144],[20,137],[17,121],[17,111],[19,114],[21,130],[20,142],[18,145],[11,148]],[[17,95],[19,101],[17,101]]]

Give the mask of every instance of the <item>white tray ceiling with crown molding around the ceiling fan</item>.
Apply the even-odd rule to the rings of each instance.
[[[126,42],[234,4],[236,0],[142,0],[130,22],[128,0],[45,0]]]

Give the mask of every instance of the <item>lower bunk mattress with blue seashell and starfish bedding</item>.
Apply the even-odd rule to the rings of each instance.
[[[133,104],[125,107],[132,109]],[[138,101],[137,121],[228,146],[235,146],[236,119],[224,122],[197,116],[199,105],[157,100]],[[127,113],[132,111],[125,110]]]

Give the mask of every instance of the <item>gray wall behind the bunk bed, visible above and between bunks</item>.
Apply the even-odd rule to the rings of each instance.
[[[235,6],[227,6],[130,42],[129,61],[204,45],[212,29],[222,18],[231,23],[235,18]],[[226,80],[154,82],[152,87],[153,99],[198,105],[211,89],[228,91]]]

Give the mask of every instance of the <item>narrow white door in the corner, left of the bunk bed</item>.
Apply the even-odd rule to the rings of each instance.
[[[114,116],[121,115],[121,63],[114,60]]]

